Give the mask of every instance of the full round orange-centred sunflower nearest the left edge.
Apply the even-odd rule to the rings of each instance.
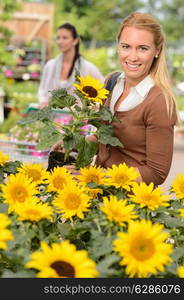
[[[38,193],[36,184],[24,174],[11,174],[8,181],[1,184],[2,197],[4,202],[9,205],[8,213],[11,213],[16,203],[23,203]]]

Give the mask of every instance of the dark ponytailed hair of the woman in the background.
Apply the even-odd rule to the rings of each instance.
[[[78,33],[77,33],[77,30],[76,30],[75,26],[73,26],[73,25],[70,24],[70,23],[64,23],[64,24],[60,25],[60,26],[57,28],[57,30],[60,30],[60,29],[66,29],[66,30],[70,31],[74,39],[79,38],[79,35],[78,35]],[[69,70],[69,72],[68,72],[67,78],[69,78],[70,75],[72,74],[73,68],[74,68],[74,65],[75,65],[75,62],[76,62],[77,58],[80,57],[79,46],[80,46],[80,40],[79,40],[78,43],[75,45],[75,55],[74,55],[74,58],[73,58],[73,61],[72,61],[71,68],[70,68],[70,70]]]

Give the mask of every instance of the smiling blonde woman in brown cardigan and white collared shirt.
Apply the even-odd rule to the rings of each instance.
[[[161,25],[149,14],[132,13],[120,27],[117,47],[123,72],[104,105],[121,121],[112,125],[124,148],[101,144],[96,164],[125,163],[138,171],[138,182],[159,185],[170,170],[178,119]]]

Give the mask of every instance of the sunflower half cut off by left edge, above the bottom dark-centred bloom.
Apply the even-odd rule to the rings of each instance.
[[[0,249],[3,250],[7,249],[6,242],[13,240],[11,231],[6,228],[10,223],[8,217],[0,213]]]

